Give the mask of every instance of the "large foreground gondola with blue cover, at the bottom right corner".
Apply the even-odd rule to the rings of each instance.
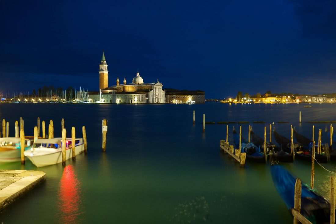
[[[291,212],[294,208],[296,178],[278,164],[271,165],[271,175],[275,188]],[[330,223],[330,202],[306,184],[302,184],[300,213],[311,223]]]

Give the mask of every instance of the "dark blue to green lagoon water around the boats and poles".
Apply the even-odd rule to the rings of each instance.
[[[54,136],[61,136],[61,118],[70,137],[85,125],[88,154],[76,161],[36,168],[29,160],[0,163],[0,169],[40,170],[47,180],[0,211],[1,223],[289,223],[292,217],[271,180],[269,164],[247,161],[245,169],[219,150],[226,125],[207,121],[249,121],[263,136],[265,124],[290,137],[290,124],[311,137],[305,121],[336,120],[336,104],[228,105],[68,105],[0,104],[0,118],[14,122],[22,116],[25,134],[33,135],[37,117],[54,122]],[[196,124],[192,124],[193,110]],[[302,111],[302,124],[298,123]],[[108,119],[107,148],[101,152],[101,120]],[[278,124],[277,121],[290,123]],[[229,141],[233,144],[232,125]],[[326,125],[314,124],[318,129]],[[47,125],[46,125],[47,126]],[[243,124],[243,136],[248,124]],[[42,130],[41,130],[42,133]],[[267,139],[269,138],[267,132]],[[272,138],[274,139],[274,138]],[[328,142],[324,135],[322,142]],[[310,183],[310,163],[284,164],[302,182]],[[336,171],[335,163],[324,166]],[[330,173],[315,166],[315,188],[329,194]]]

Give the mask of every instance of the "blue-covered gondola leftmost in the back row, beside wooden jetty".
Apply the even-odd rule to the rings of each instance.
[[[239,148],[239,134],[236,132],[235,128],[233,129],[233,140],[237,147]],[[242,147],[241,152],[246,152],[246,159],[258,162],[258,163],[265,163],[266,159],[262,152],[260,152],[260,147],[255,146],[253,143],[249,143],[246,141],[245,138],[242,137]]]

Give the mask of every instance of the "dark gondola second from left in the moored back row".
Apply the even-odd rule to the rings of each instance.
[[[263,152],[264,151],[264,140],[258,135],[256,135],[253,132],[252,128],[250,132],[250,137],[251,137],[252,143],[256,145],[257,147],[260,147],[260,150]],[[266,153],[269,154],[270,152],[274,154],[276,160],[279,162],[294,162],[294,157],[292,154],[283,151],[282,148],[279,149],[278,146],[273,144],[272,142],[266,141]]]

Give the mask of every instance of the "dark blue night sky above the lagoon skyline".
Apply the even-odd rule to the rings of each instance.
[[[335,0],[0,0],[0,90],[98,90],[137,70],[206,98],[336,92]]]

